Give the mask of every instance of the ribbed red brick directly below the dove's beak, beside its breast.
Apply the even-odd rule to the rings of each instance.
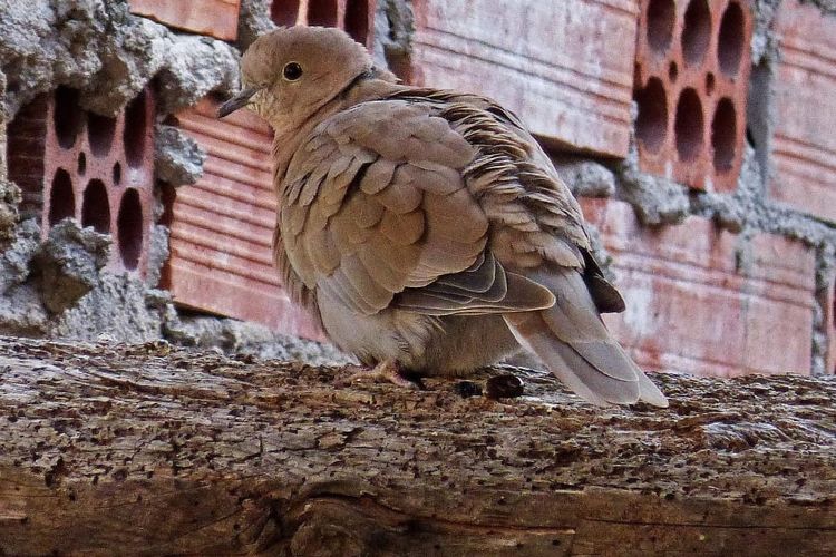
[[[204,99],[177,115],[208,157],[203,177],[177,188],[172,203],[163,286],[179,305],[322,340],[312,320],[291,304],[273,265],[272,133],[243,110],[218,120],[217,106]]]

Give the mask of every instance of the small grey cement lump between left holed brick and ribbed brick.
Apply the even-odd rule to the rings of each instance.
[[[158,125],[154,137],[154,175],[173,186],[194,184],[203,176],[206,152],[175,126]]]

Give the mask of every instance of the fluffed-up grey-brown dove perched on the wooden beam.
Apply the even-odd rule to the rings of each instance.
[[[458,378],[523,349],[592,404],[668,405],[604,325],[624,301],[511,110],[401,84],[344,31],[305,26],[244,52],[218,118],[242,108],[274,131],[284,287],[371,374]]]

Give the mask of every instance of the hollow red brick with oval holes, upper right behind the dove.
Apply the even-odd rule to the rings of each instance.
[[[642,0],[639,21],[641,168],[699,189],[735,189],[746,134],[750,2]]]

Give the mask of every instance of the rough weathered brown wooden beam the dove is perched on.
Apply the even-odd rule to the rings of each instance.
[[[834,378],[660,411],[344,373],[0,339],[0,555],[836,554]]]

